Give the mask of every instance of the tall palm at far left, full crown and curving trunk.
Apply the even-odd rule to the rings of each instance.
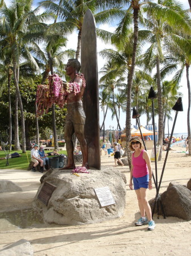
[[[35,34],[35,29],[37,26],[31,26],[32,24],[37,24],[40,20],[46,17],[46,15],[39,15],[38,18],[35,13],[38,10],[32,11],[32,0],[14,0],[11,2],[9,8],[5,4],[1,7],[1,21],[0,21],[0,31],[1,31],[1,48],[5,51],[10,49],[12,54],[12,65],[13,65],[13,75],[14,84],[16,88],[16,94],[18,97],[21,123],[22,123],[22,151],[26,152],[26,137],[25,137],[25,125],[24,125],[24,110],[22,104],[22,98],[20,96],[19,90],[19,61],[20,57],[24,59],[30,59],[33,67],[38,69],[35,60],[29,54],[26,46],[28,40],[34,40],[34,37],[41,38],[41,33]],[[50,16],[50,15],[49,15]],[[33,33],[31,33],[31,31]],[[30,32],[29,32],[30,31]]]

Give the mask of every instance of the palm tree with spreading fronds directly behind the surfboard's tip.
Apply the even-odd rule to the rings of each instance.
[[[54,24],[54,26],[52,26],[53,31],[62,31],[63,34],[71,33],[74,30],[78,31],[77,51],[75,58],[79,59],[83,18],[87,9],[90,9],[92,13],[95,14],[97,24],[113,22],[114,19],[118,19],[122,16],[122,11],[120,9],[122,3],[125,3],[125,1],[60,0],[59,5],[53,1],[43,1],[41,2],[41,6],[45,7],[45,9],[51,13],[54,12],[54,14],[58,15],[58,18],[62,20],[61,22],[57,22]],[[97,13],[97,11],[99,11],[99,13]],[[101,35],[103,36],[103,31]]]

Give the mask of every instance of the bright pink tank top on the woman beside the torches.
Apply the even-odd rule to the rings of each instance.
[[[142,150],[141,154],[137,158],[134,157],[134,152],[133,152],[133,155],[132,155],[133,177],[143,177],[148,174],[148,167],[145,159],[143,159],[144,151],[145,150]]]

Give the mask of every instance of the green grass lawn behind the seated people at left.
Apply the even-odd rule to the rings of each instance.
[[[20,158],[9,158],[9,166],[6,166],[7,159],[0,160],[0,169],[16,169],[16,170],[27,170],[28,164],[31,162],[31,151],[28,150],[27,153],[23,154],[22,150],[20,151],[10,151],[10,154],[18,152],[20,155],[22,155]],[[49,151],[45,151],[49,152]],[[66,154],[66,150],[60,150],[59,154]],[[27,159],[28,155],[28,159]],[[5,157],[5,151],[0,151],[0,158]],[[51,156],[49,156],[51,157]]]

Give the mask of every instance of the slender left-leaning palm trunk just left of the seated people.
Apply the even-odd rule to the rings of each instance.
[[[21,118],[21,129],[22,129],[22,152],[26,153],[26,137],[25,137],[25,124],[24,124],[24,111],[23,111],[23,102],[20,96],[19,84],[18,84],[18,72],[16,71],[16,60],[13,54],[13,75],[14,75],[14,84],[16,87],[16,94],[18,96],[19,108],[20,108],[20,118]]]

